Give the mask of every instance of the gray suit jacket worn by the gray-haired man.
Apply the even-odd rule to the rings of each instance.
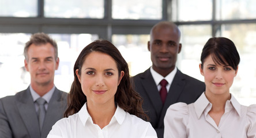
[[[29,87],[16,95],[1,98],[0,137],[45,138],[51,131],[52,125],[63,118],[66,108],[67,93],[56,88],[48,104],[40,134],[39,122]]]

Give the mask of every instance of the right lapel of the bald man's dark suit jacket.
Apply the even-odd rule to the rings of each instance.
[[[160,121],[159,121],[159,126],[164,124],[164,116],[169,106],[172,104],[175,104],[178,101],[179,96],[182,93],[183,88],[185,87],[185,84],[186,84],[185,81],[186,79],[183,76],[182,72],[177,70],[164,103],[164,107],[163,107]]]

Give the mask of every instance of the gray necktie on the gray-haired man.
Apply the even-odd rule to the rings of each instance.
[[[37,112],[40,130],[42,130],[43,122],[44,122],[44,116],[46,116],[46,109],[44,108],[44,104],[46,104],[46,100],[42,97],[36,99],[36,103],[39,106],[39,110]]]

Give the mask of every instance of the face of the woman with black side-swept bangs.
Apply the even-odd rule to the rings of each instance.
[[[205,78],[206,93],[212,94],[227,94],[231,87],[234,78],[238,72],[231,66],[215,64],[212,56],[209,55],[202,68],[199,65],[200,72]]]

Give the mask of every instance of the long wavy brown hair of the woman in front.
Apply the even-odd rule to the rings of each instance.
[[[71,89],[67,97],[68,107],[65,111],[64,117],[77,113],[87,101],[85,94],[82,92],[81,83],[78,81],[76,70],[78,69],[78,74],[81,74],[80,70],[86,56],[93,51],[110,55],[115,60],[119,76],[121,71],[125,72],[125,75],[123,76],[115,93],[115,102],[118,106],[130,114],[134,114],[137,117],[148,120],[148,116],[142,110],[142,98],[131,85],[128,64],[125,59],[123,59],[118,49],[107,40],[93,41],[82,49],[80,55],[77,57],[76,63],[74,64],[74,82],[71,85]]]

